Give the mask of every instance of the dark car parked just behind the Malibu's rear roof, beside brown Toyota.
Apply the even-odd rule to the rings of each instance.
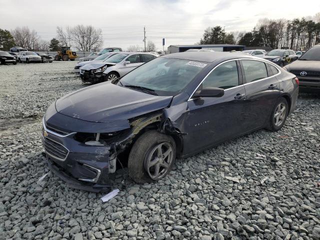
[[[263,58],[279,66],[285,66],[298,59],[298,56],[290,49],[274,49],[266,53]]]

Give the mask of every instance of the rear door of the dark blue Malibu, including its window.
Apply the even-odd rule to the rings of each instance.
[[[245,131],[263,126],[279,96],[277,74],[260,60],[240,60],[246,99],[242,127]]]

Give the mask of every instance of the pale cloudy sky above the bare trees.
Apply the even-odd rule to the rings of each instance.
[[[303,4],[302,4],[303,3]],[[194,44],[208,26],[249,31],[260,18],[313,16],[320,0],[0,0],[0,28],[28,26],[41,39],[56,36],[56,26],[101,28],[103,47]]]

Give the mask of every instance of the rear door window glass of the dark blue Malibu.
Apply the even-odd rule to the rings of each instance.
[[[246,82],[256,81],[268,76],[263,61],[242,60]]]

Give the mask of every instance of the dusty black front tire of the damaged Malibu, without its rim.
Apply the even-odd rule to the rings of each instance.
[[[147,173],[147,160],[153,149],[160,143],[169,144],[172,148],[172,159],[169,167],[161,174],[160,178],[152,179]],[[153,182],[165,177],[170,172],[175,160],[175,141],[171,136],[159,133],[156,130],[150,130],[143,133],[134,142],[128,157],[128,173],[136,183]],[[164,168],[162,168],[163,170]]]

